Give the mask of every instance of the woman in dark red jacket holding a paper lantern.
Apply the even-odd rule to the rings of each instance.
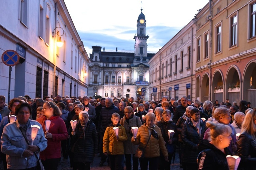
[[[44,116],[37,119],[42,125],[45,138],[47,139],[47,148],[40,153],[40,158],[47,170],[57,170],[61,157],[61,140],[68,138],[68,132],[65,122],[60,117],[59,107],[53,102],[45,102],[43,105]],[[51,120],[48,132],[46,132],[45,120]]]

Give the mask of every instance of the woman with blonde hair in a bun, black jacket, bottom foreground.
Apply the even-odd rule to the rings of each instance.
[[[210,141],[203,140],[199,143],[199,149],[203,149],[203,151],[197,158],[198,169],[229,170],[225,148],[229,146],[232,139],[230,126],[211,121],[207,121],[206,125],[210,129]]]

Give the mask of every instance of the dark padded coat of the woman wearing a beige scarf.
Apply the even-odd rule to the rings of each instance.
[[[197,133],[197,129],[193,126],[193,123],[187,119],[182,128],[182,140],[184,142],[184,156],[183,162],[185,163],[197,163],[197,156],[199,154],[198,144],[200,136]],[[205,122],[200,119],[201,133],[205,129]]]

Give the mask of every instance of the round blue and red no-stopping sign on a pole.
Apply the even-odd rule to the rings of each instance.
[[[6,50],[2,54],[2,61],[6,66],[15,66],[19,63],[19,54],[14,50]]]

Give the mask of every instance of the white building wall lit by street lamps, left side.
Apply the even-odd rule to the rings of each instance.
[[[20,72],[21,85],[25,86],[23,90],[15,91],[15,85],[18,82],[15,80],[19,77],[19,70],[15,69],[17,66],[12,67],[11,73],[11,95],[10,98],[17,97],[16,94],[29,95],[35,98],[36,89],[36,74],[37,74],[37,58],[40,58],[44,63],[49,65],[49,75],[48,75],[48,95],[52,95],[55,92],[54,81],[55,81],[55,70],[54,65],[56,65],[56,70],[59,72],[58,76],[58,90],[57,93],[62,95],[70,94],[69,83],[71,79],[72,84],[72,95],[76,92],[76,96],[81,94],[81,91],[87,92],[87,81],[88,79],[79,79],[78,76],[83,70],[81,67],[81,62],[84,65],[90,63],[89,57],[82,45],[82,41],[79,38],[78,33],[75,30],[73,22],[67,11],[67,7],[63,0],[49,0],[49,1],[27,1],[27,23],[23,24],[20,22],[20,3],[13,1],[6,1],[0,5],[0,55],[5,50],[15,50],[16,44],[19,43],[20,46],[26,49],[26,61],[21,65],[25,65],[25,73]],[[42,39],[39,37],[39,18],[40,18],[40,3],[43,7],[44,22],[43,27],[46,28],[46,11],[47,8],[49,16],[49,29],[43,30]],[[57,4],[57,11],[56,6]],[[12,9],[12,10],[10,10]],[[55,13],[56,12],[56,13]],[[55,20],[55,14],[56,20]],[[6,17],[8,16],[8,17]],[[10,22],[11,21],[11,22]],[[66,46],[62,46],[57,49],[56,41],[57,36],[53,37],[53,31],[55,27],[61,27],[64,30],[64,35],[61,37],[62,42],[65,40]],[[61,29],[57,29],[62,34]],[[48,32],[47,32],[48,31]],[[49,35],[49,43],[46,44],[45,35]],[[71,46],[73,45],[73,69],[71,69]],[[82,46],[81,46],[82,45]],[[80,47],[78,47],[80,46]],[[57,51],[58,50],[58,51]],[[79,54],[80,53],[80,54]],[[58,54],[58,56],[57,56]],[[64,60],[64,55],[66,60]],[[76,57],[76,61],[75,61]],[[81,60],[79,60],[81,58]],[[76,66],[75,66],[76,64]],[[75,69],[76,68],[76,69]],[[42,67],[42,94],[43,97],[43,74],[44,68]],[[88,70],[87,70],[88,71]],[[65,83],[62,87],[62,74],[65,74]],[[4,82],[4,85],[0,87],[0,94],[8,97],[8,79],[9,79],[9,66],[5,66],[2,61],[0,61],[0,81]],[[74,81],[75,80],[75,81]],[[76,90],[74,90],[74,82],[76,82]],[[78,82],[81,85],[78,85]],[[81,89],[80,89],[81,88]],[[64,90],[64,91],[63,91]],[[7,100],[6,100],[7,101]]]

